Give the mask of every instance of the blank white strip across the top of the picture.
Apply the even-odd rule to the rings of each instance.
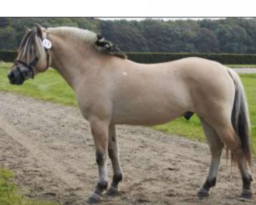
[[[3,0],[3,17],[253,17],[256,0]],[[38,1],[39,2],[39,1]],[[25,12],[24,12],[25,11]]]

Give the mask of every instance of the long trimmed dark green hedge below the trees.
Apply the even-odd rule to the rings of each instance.
[[[222,64],[256,64],[255,54],[233,53],[126,53],[128,59],[139,63],[158,63],[173,61],[190,56],[215,60]],[[0,60],[13,61],[17,56],[16,51],[0,50]]]

